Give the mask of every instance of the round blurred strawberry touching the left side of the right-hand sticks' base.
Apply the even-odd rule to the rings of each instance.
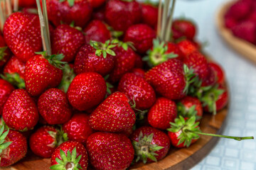
[[[143,23],[130,26],[124,34],[124,42],[132,42],[137,52],[141,54],[153,46],[154,38],[156,38],[155,31]]]

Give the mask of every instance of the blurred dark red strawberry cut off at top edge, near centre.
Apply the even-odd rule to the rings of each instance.
[[[107,1],[105,19],[114,30],[125,31],[129,26],[139,23],[141,17],[142,8],[137,1]]]

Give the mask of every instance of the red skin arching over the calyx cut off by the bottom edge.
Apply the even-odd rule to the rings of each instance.
[[[62,160],[61,157],[60,157],[60,149],[62,149],[63,152],[65,153],[65,155],[67,155],[67,152],[70,151],[70,153],[72,153],[74,148],[76,149],[77,157],[82,155],[82,157],[79,161],[79,164],[82,167],[82,169],[86,170],[87,166],[88,166],[87,150],[85,149],[85,147],[80,142],[75,142],[75,141],[63,142],[60,146],[58,146],[52,154],[52,157],[50,159],[50,164],[51,165],[58,164],[55,161],[56,158]]]

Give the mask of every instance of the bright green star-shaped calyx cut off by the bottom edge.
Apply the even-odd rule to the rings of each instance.
[[[79,155],[77,157],[76,148],[73,149],[72,153],[68,150],[67,155],[65,152],[60,149],[60,158],[56,158],[55,161],[58,164],[55,164],[53,166],[50,166],[50,169],[53,170],[79,170],[82,169],[80,164],[78,162],[80,161],[82,155]]]

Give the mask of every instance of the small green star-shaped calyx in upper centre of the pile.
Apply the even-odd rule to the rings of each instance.
[[[112,48],[117,45],[110,43],[110,40],[107,40],[105,43],[90,40],[90,45],[95,48],[95,55],[99,57],[103,55],[103,57],[106,58],[107,54],[112,56],[116,55]]]

